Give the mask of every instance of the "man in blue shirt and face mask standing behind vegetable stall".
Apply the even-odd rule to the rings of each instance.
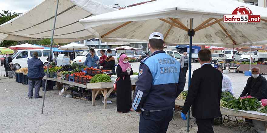
[[[98,56],[95,54],[94,49],[89,50],[89,55],[87,55],[86,60],[84,62],[84,66],[87,67],[97,67],[96,61],[99,60]]]

